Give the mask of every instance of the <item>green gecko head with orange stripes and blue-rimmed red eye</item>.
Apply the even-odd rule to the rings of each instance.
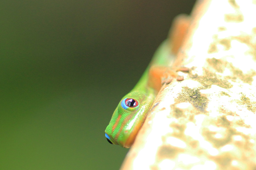
[[[132,146],[153,103],[152,96],[135,91],[121,99],[105,130],[108,142],[125,148]]]

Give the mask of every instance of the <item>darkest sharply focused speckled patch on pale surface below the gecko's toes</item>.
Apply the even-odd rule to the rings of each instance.
[[[202,88],[201,88],[202,89]],[[175,99],[175,102],[189,102],[191,103],[197,110],[201,112],[206,112],[206,107],[208,104],[208,99],[205,96],[202,96],[200,91],[200,88],[188,88],[183,87],[182,91],[178,95],[178,98]]]

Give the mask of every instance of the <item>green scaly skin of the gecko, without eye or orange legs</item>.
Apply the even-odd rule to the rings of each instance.
[[[149,68],[153,65],[165,65],[174,59],[173,55],[170,54],[171,50],[168,45],[169,43],[166,40],[159,46],[139,82],[119,102],[105,130],[106,137],[110,143],[125,148],[132,146],[158,93],[154,88],[148,86]],[[138,106],[127,107],[125,99],[136,100]]]

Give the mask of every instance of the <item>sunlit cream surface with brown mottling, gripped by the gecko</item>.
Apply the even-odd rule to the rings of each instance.
[[[256,1],[201,0],[121,169],[256,169]]]

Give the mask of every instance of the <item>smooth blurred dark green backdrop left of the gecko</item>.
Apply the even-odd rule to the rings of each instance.
[[[104,130],[195,0],[0,2],[0,169],[118,169]]]

